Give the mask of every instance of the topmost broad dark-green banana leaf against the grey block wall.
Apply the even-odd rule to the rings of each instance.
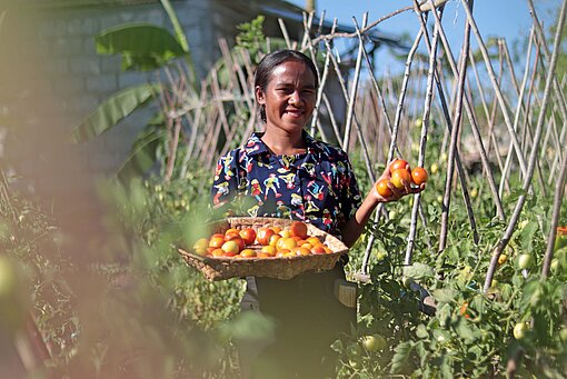
[[[146,22],[107,29],[94,41],[100,54],[122,54],[122,70],[155,70],[187,53],[167,29]]]

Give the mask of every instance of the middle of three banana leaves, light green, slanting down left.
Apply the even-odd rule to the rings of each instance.
[[[120,120],[145,106],[159,89],[158,84],[141,84],[112,94],[72,131],[73,142],[83,142],[102,134]]]

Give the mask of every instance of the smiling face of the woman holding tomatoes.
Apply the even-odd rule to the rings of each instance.
[[[266,92],[256,87],[256,98],[266,106],[266,127],[301,131],[315,108],[317,89],[311,70],[301,61],[288,60],[269,77]]]

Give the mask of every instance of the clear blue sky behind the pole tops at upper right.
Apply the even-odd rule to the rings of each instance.
[[[306,4],[305,0],[288,2],[299,7]],[[561,2],[559,0],[533,0],[533,2],[544,27],[551,24]],[[337,18],[339,23],[352,24],[352,17],[360,23],[366,11],[369,12],[369,22],[372,22],[412,3],[412,0],[316,0],[316,11],[317,14],[321,14],[325,10],[326,19]],[[515,41],[527,40],[529,36],[533,19],[526,0],[477,0],[472,13],[485,43],[489,37],[504,37],[509,49],[513,49]],[[462,43],[466,17],[460,0],[447,2],[442,26],[455,57],[458,57]],[[414,40],[419,30],[419,22],[412,11],[407,11],[379,23],[377,28],[392,36],[409,33]],[[476,39],[471,34],[471,47],[475,49],[476,46]],[[388,61],[386,60],[384,64],[388,64]]]

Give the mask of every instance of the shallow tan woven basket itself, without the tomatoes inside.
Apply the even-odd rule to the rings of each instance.
[[[225,233],[229,228],[253,228],[258,230],[265,226],[278,226],[285,228],[294,220],[276,219],[268,217],[232,217],[226,220],[211,222],[210,233]],[[201,257],[179,248],[178,251],[185,261],[199,271],[209,280],[223,280],[241,277],[268,277],[276,279],[291,279],[306,271],[330,270],[337,263],[339,257],[348,251],[348,248],[338,238],[307,223],[309,236],[318,237],[332,251],[326,255],[310,255],[299,257],[273,257],[273,258],[225,258]],[[260,245],[248,246],[260,251]]]

